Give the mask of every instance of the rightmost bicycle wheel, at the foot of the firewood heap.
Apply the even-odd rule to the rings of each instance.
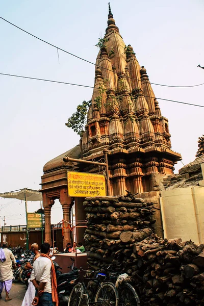
[[[119,287],[119,306],[139,306],[140,299],[136,290],[129,283]]]

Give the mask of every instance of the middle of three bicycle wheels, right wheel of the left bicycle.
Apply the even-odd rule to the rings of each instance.
[[[95,295],[95,302],[101,306],[117,306],[118,291],[113,283],[102,283]]]

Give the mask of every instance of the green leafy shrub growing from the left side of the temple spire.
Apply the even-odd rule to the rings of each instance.
[[[83,132],[90,105],[91,100],[84,100],[82,104],[78,105],[77,112],[73,113],[73,115],[68,118],[67,123],[65,123],[67,127],[70,127],[74,132],[77,132],[78,135],[81,135]]]

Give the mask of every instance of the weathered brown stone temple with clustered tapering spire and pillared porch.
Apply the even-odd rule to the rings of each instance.
[[[96,59],[92,104],[80,145],[47,162],[43,168],[42,196],[45,241],[52,244],[50,211],[55,199],[70,219],[75,203],[77,219],[83,219],[83,198],[70,198],[67,170],[103,173],[103,167],[82,166],[63,157],[100,161],[108,150],[110,195],[153,191],[155,176],[172,174],[181,155],[171,150],[168,119],[163,117],[144,66],[140,67],[133,47],[125,45],[109,5],[108,27]],[[77,168],[76,168],[77,167]],[[64,246],[70,241],[64,231]]]

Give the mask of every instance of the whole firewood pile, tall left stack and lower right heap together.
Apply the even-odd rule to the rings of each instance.
[[[204,245],[153,233],[154,206],[131,196],[86,198],[88,266],[130,275],[141,305],[204,305]]]

